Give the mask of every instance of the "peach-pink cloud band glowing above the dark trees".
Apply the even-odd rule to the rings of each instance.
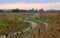
[[[51,3],[8,3],[8,4],[0,4],[0,9],[60,9],[60,2],[51,2]]]

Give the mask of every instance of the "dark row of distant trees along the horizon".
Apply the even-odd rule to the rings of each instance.
[[[55,11],[60,11],[60,10],[44,10],[44,9],[34,9],[34,8],[32,8],[32,9],[29,9],[29,10],[24,10],[24,9],[18,9],[18,8],[16,8],[16,9],[7,9],[7,10],[1,10],[0,9],[0,12],[8,12],[8,13],[10,13],[10,12],[16,12],[16,13],[20,13],[20,12],[55,12]]]

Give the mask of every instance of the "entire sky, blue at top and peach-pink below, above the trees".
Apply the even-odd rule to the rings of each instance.
[[[0,9],[15,8],[60,10],[60,0],[0,0]]]

